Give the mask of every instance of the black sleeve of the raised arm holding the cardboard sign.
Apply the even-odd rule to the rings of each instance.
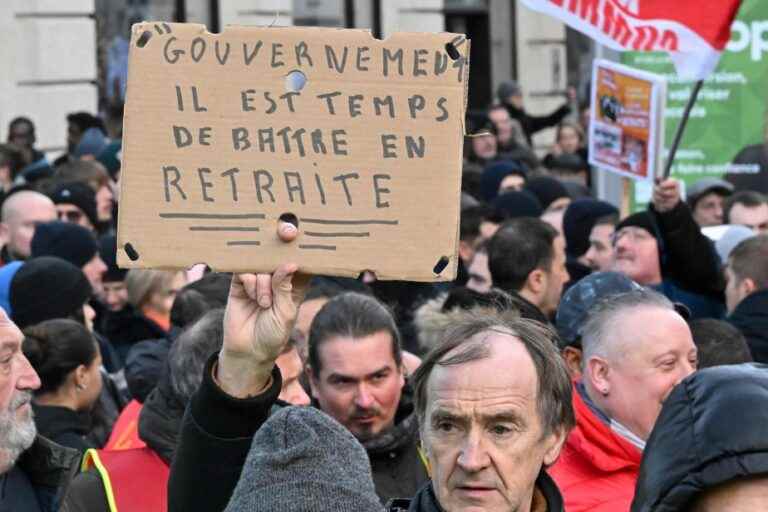
[[[168,479],[169,512],[224,510],[240,479],[253,435],[269,417],[282,387],[280,370],[262,394],[237,399],[213,380],[214,354],[192,397],[179,434]]]

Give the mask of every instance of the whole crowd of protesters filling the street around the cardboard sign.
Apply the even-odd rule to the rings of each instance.
[[[120,112],[52,162],[14,119],[0,511],[760,510],[768,199],[665,179],[620,212],[568,96],[471,116],[440,284],[120,269]]]

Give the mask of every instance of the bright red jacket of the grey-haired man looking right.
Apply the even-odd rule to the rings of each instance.
[[[576,427],[548,472],[568,512],[628,512],[642,452],[613,432],[573,388]]]

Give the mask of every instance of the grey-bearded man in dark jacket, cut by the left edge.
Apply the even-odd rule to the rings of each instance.
[[[21,350],[23,339],[0,308],[0,512],[54,512],[80,454],[37,435],[30,402],[40,378]]]

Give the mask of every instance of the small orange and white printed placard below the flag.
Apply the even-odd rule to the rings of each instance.
[[[592,70],[589,163],[652,182],[660,169],[664,79],[613,62]]]

